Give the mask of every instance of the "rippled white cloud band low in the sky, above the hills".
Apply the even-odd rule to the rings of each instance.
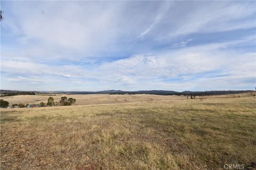
[[[181,48],[151,55],[135,55],[122,60],[95,63],[90,66],[50,66],[6,60],[2,62],[2,71],[14,75],[14,78],[9,79],[12,82],[27,79],[27,83],[36,83],[37,80],[43,81],[49,77],[63,77],[63,80],[56,79],[59,80],[58,84],[67,81],[77,86],[77,84],[85,82],[81,88],[87,87],[88,84],[92,84],[94,87],[100,86],[99,84],[102,83],[124,90],[138,88],[169,90],[188,90],[198,87],[205,90],[210,90],[210,87],[217,89],[242,88],[243,81],[250,80],[246,84],[252,84],[252,79],[255,78],[255,53],[238,53],[234,50],[222,50],[222,48],[244,43],[244,41]],[[24,78],[21,79],[22,75],[26,75],[26,77],[23,76]],[[198,78],[198,75],[201,77]],[[173,81],[175,79],[179,79],[179,81]],[[181,85],[179,86],[179,84]],[[103,90],[102,85],[98,88],[98,90]]]

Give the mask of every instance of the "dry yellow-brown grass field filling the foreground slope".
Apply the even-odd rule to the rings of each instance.
[[[224,169],[256,162],[255,97],[158,97],[1,109],[1,169]]]

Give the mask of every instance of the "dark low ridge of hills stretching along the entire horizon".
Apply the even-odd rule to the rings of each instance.
[[[110,94],[110,95],[123,95],[123,94],[150,94],[150,95],[229,95],[229,94],[242,94],[246,92],[255,92],[253,90],[213,90],[213,91],[169,91],[169,90],[139,90],[139,91],[122,91],[122,90],[103,90],[103,91],[18,91],[18,90],[1,90],[1,96],[14,96],[14,95],[35,95],[39,94]]]

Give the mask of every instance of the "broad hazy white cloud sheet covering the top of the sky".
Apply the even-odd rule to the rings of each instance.
[[[17,38],[2,52],[37,60],[111,57],[133,50],[146,35],[157,44],[189,33],[255,27],[255,17],[248,18],[255,9],[247,2],[57,1],[10,2],[8,7],[12,15],[6,14],[1,27]]]

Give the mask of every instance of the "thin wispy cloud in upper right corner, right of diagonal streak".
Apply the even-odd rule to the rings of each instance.
[[[191,33],[221,32],[255,27],[255,8],[249,2],[177,2],[158,23],[159,40]],[[255,5],[255,4],[254,4]],[[179,7],[177,7],[179,6]],[[176,8],[176,9],[175,9]],[[184,12],[186,11],[186,13]]]

